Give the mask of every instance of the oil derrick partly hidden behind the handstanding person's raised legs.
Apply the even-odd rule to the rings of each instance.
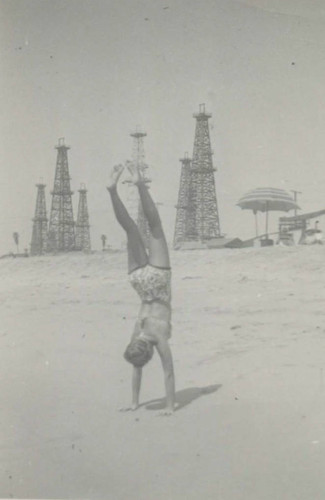
[[[148,165],[145,163],[143,139],[146,137],[145,132],[140,132],[138,129],[130,134],[133,137],[132,163],[139,167],[140,173],[145,180],[145,183],[150,184],[151,180],[147,177]],[[128,181],[126,181],[128,182]],[[148,247],[149,240],[149,225],[144,216],[142,205],[139,199],[137,188],[129,182],[128,186],[128,203],[131,217],[136,221],[142,236],[143,242]]]

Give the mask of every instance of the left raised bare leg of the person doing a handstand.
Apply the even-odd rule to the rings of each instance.
[[[128,214],[117,192],[117,183],[123,169],[123,165],[117,165],[113,168],[107,190],[111,196],[116,219],[127,235],[128,272],[131,273],[134,269],[145,266],[148,263],[148,255],[138,227]]]

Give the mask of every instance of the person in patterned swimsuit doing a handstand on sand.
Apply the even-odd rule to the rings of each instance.
[[[118,192],[117,183],[124,170],[115,166],[107,189],[110,193],[117,221],[127,235],[128,273],[131,285],[141,298],[141,307],[131,341],[124,357],[133,365],[132,406],[139,406],[142,367],[152,358],[154,347],[161,358],[166,388],[166,411],[171,414],[175,406],[175,380],[173,358],[168,344],[171,336],[171,269],[166,238],[158,210],[153,202],[139,169],[128,164],[132,182],[139,191],[143,213],[148,221],[149,251],[145,249],[138,227],[128,214]]]

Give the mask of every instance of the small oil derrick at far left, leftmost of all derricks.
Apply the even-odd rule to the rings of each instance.
[[[30,253],[31,255],[42,255],[46,252],[48,221],[46,217],[45,184],[40,182],[36,184],[36,187],[37,198]]]

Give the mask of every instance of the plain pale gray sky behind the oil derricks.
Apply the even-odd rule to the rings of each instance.
[[[131,156],[136,125],[172,240],[200,103],[213,115],[222,232],[254,235],[235,205],[255,187],[325,207],[323,0],[2,0],[0,16],[0,254],[13,231],[29,245],[40,178],[49,215],[59,137],[71,146],[74,216],[85,183],[93,248],[102,233],[119,246],[105,183]]]

